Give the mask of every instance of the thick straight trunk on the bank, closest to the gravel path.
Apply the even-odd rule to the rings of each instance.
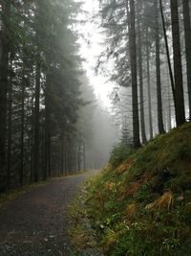
[[[135,2],[130,0],[130,62],[132,79],[132,106],[133,106],[133,138],[134,147],[140,147],[138,123],[138,77],[137,77],[137,44],[136,44],[136,14]]]

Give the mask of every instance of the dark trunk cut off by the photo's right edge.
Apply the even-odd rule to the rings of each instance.
[[[189,0],[182,0],[182,5],[183,5],[184,36],[185,36],[185,57],[186,57],[186,69],[187,69],[189,120],[191,121],[191,26],[190,26]]]

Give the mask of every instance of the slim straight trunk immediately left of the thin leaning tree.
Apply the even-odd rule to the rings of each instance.
[[[160,79],[160,59],[159,59],[159,15],[158,2],[155,3],[155,39],[156,39],[156,74],[157,74],[157,94],[158,94],[158,128],[159,134],[164,133],[163,115],[162,115],[162,100],[161,100],[161,79]]]

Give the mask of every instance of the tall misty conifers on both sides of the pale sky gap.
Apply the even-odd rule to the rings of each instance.
[[[139,148],[190,119],[189,4],[99,1],[92,18],[105,40],[95,68],[116,84],[111,115],[125,145]],[[1,1],[1,191],[86,169],[86,158],[96,167],[86,151],[96,99],[85,86],[79,12],[72,0]]]

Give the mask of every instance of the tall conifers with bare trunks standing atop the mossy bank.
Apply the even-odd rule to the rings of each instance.
[[[191,120],[190,5],[189,0],[99,0],[106,49],[97,67],[106,68],[112,59],[111,80],[131,84],[128,116],[135,148],[155,135],[154,119],[158,133],[173,121],[180,126]]]

